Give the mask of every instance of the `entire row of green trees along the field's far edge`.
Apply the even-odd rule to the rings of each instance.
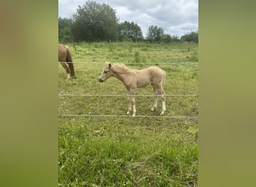
[[[198,31],[177,36],[165,34],[163,28],[150,25],[144,38],[135,22],[118,22],[116,11],[109,4],[85,1],[71,18],[58,18],[58,40],[67,42],[147,41],[150,43],[198,43]]]

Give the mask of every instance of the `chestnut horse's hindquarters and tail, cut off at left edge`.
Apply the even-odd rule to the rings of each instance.
[[[58,61],[66,70],[67,79],[76,78],[70,48],[61,43],[58,43]]]

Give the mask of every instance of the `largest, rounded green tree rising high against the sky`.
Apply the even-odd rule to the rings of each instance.
[[[72,35],[76,41],[109,41],[118,39],[118,19],[109,4],[85,1],[73,14]]]

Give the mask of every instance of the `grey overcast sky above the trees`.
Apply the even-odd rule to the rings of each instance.
[[[58,0],[58,16],[71,18],[86,0]],[[109,4],[120,22],[137,23],[144,37],[150,25],[162,27],[165,34],[181,37],[198,31],[198,0],[94,0]]]

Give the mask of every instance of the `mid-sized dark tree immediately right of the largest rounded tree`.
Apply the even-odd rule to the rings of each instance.
[[[119,24],[118,40],[138,42],[143,40],[141,28],[134,22],[121,22]]]

